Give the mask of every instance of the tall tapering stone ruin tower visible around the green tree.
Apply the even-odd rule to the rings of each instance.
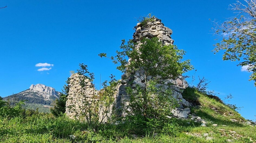
[[[144,25],[143,25],[144,24]],[[168,27],[165,27],[162,23],[162,20],[152,17],[149,21],[144,23],[137,23],[137,26],[134,28],[136,31],[133,33],[133,41],[136,42],[136,46],[140,46],[141,40],[143,38],[153,38],[157,37],[164,45],[173,44],[173,40],[170,37],[172,34],[172,30]],[[135,74],[140,74],[135,73]],[[129,95],[126,93],[126,87],[130,86],[132,88],[136,88],[136,84],[142,85],[145,81],[141,80],[142,78],[138,78],[138,76],[143,75],[130,75],[129,73],[125,73],[122,75],[121,83],[119,87],[119,94],[116,99],[116,109],[119,111],[119,116],[126,116],[125,110],[127,110],[127,105],[129,104]],[[145,85],[145,84],[144,84]],[[179,108],[173,109],[172,113],[174,116],[187,118],[190,113],[190,109],[188,108],[190,103],[182,98],[183,90],[188,87],[187,81],[184,80],[183,76],[178,76],[175,80],[167,79],[163,80],[161,84],[158,86],[168,86],[173,90],[173,97],[179,102]]]

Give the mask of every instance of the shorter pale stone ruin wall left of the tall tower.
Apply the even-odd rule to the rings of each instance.
[[[117,84],[117,86],[115,86],[113,89],[113,101],[116,101],[116,95],[118,95],[117,93],[119,86],[120,84]],[[72,74],[69,77],[68,87],[69,91],[66,101],[65,113],[71,119],[87,120],[85,115],[88,116],[89,109],[96,109],[97,112],[94,114],[96,114],[96,116],[99,117],[99,121],[102,122],[107,122],[107,120],[111,118],[111,115],[114,114],[113,107],[115,104],[111,104],[110,107],[107,108],[104,106],[106,104],[101,104],[102,102],[98,102],[100,100],[100,94],[104,92],[104,89],[101,91],[96,91],[94,84],[92,84],[90,80],[85,76],[78,73]],[[96,106],[97,108],[95,108]]]

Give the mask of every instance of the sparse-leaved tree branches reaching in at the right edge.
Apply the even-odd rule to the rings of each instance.
[[[222,41],[214,45],[213,51],[223,50],[223,60],[240,61],[237,66],[252,72],[249,80],[254,80],[256,86],[256,1],[237,1],[230,6],[237,15],[222,24],[214,22],[214,34]]]

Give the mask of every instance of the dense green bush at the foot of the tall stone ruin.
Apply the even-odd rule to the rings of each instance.
[[[150,80],[146,91],[139,85],[136,89],[127,87],[127,94],[130,95],[129,105],[127,105],[129,115],[163,119],[178,106],[177,100],[172,97],[172,90],[156,87],[156,84],[156,81]]]

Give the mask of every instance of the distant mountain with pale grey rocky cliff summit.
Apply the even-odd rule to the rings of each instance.
[[[8,101],[10,105],[14,105],[18,101],[25,100],[25,106],[30,106],[32,109],[35,109],[35,107],[48,108],[42,109],[42,112],[44,112],[44,110],[49,112],[49,105],[51,105],[55,99],[59,98],[59,95],[60,92],[55,91],[52,87],[48,87],[43,84],[32,84],[29,89],[17,94],[6,96],[3,99]]]

